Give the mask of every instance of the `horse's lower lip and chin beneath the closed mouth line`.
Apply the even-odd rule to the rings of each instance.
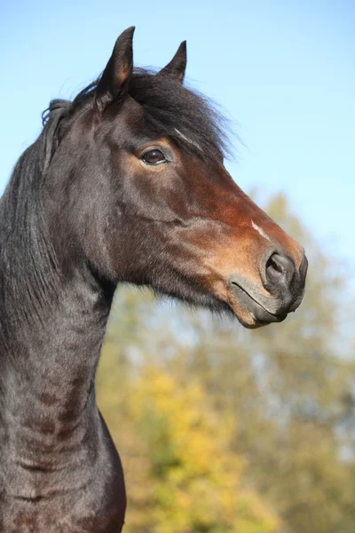
[[[288,315],[288,313],[272,313],[255,297],[251,296],[238,282],[230,282],[230,290],[232,296],[232,304],[230,306],[232,306],[234,314],[236,314],[242,325],[247,328],[260,328],[271,322],[282,322]],[[235,305],[233,305],[233,302],[235,302]],[[241,313],[240,308],[242,308],[244,313]]]

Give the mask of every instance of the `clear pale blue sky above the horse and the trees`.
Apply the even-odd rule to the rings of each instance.
[[[0,0],[0,192],[50,99],[98,76],[131,25],[140,66],[162,67],[187,39],[189,83],[238,121],[245,147],[228,164],[234,179],[285,191],[355,272],[352,0]]]

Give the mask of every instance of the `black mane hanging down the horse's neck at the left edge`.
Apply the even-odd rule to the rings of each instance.
[[[60,106],[51,107],[43,131],[20,155],[0,199],[0,312],[4,333],[11,331],[12,321],[36,320],[39,309],[48,304],[48,287],[55,287],[57,261],[38,193],[58,147],[58,126],[67,109],[62,101]]]

